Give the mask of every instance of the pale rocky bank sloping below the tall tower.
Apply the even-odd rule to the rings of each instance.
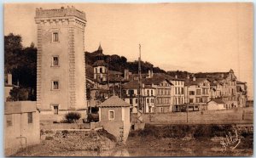
[[[116,139],[105,130],[46,130],[43,133],[41,131],[41,138],[40,144],[29,146],[12,156],[71,156],[69,151],[82,150],[92,154],[95,151],[112,150],[116,146]]]

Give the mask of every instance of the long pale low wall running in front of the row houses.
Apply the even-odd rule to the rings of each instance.
[[[136,122],[137,115],[132,115],[132,122]],[[188,113],[189,123],[253,123],[253,109],[236,108],[231,110],[206,110]],[[186,112],[143,114],[143,121],[148,123],[186,123]]]

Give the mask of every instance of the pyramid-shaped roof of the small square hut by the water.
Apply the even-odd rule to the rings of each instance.
[[[130,107],[130,104],[126,103],[124,100],[119,99],[118,96],[113,95],[109,99],[105,100],[99,107]]]

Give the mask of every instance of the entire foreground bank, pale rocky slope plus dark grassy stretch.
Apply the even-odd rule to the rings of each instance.
[[[125,145],[119,146],[104,131],[58,133],[41,144],[28,147],[14,156],[251,156],[253,131],[235,125],[164,125],[146,124],[144,130],[131,131]],[[237,133],[237,135],[236,135]],[[51,133],[56,134],[56,133]],[[55,135],[53,135],[55,136]],[[233,143],[224,146],[222,141]],[[236,138],[240,142],[236,141]],[[237,140],[238,140],[237,139]],[[107,140],[107,141],[106,141]],[[105,142],[104,145],[102,142]],[[112,144],[108,146],[108,143]],[[237,144],[237,146],[236,146]],[[230,147],[235,147],[234,150]],[[102,148],[104,147],[105,150]],[[226,149],[225,149],[226,147]],[[108,149],[107,149],[108,148]]]

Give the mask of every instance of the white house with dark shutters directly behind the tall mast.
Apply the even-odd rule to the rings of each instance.
[[[131,113],[137,113],[138,108],[138,81],[131,81],[124,85],[125,102],[131,104]],[[155,88],[152,85],[145,85],[143,83],[141,93],[141,104],[143,113],[155,112]]]

